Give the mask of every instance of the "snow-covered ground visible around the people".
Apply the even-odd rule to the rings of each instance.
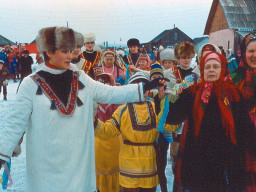
[[[12,108],[14,107],[14,101],[16,98],[16,90],[19,82],[14,83],[12,80],[9,80],[9,85],[7,87],[7,101],[3,101],[3,95],[0,95],[0,131],[5,127],[6,119]],[[24,138],[21,145],[22,152],[19,157],[12,158],[12,167],[11,167],[11,176],[13,179],[13,185],[7,189],[11,192],[24,192],[25,191],[25,169],[26,169],[26,149],[25,149],[26,139]],[[168,155],[170,152],[168,151]],[[168,191],[172,191],[173,184],[173,174],[171,170],[171,162],[168,156],[168,165],[166,168],[166,175],[168,179]],[[0,171],[2,175],[3,169]],[[2,189],[0,188],[0,191]],[[158,187],[157,192],[160,192]]]

